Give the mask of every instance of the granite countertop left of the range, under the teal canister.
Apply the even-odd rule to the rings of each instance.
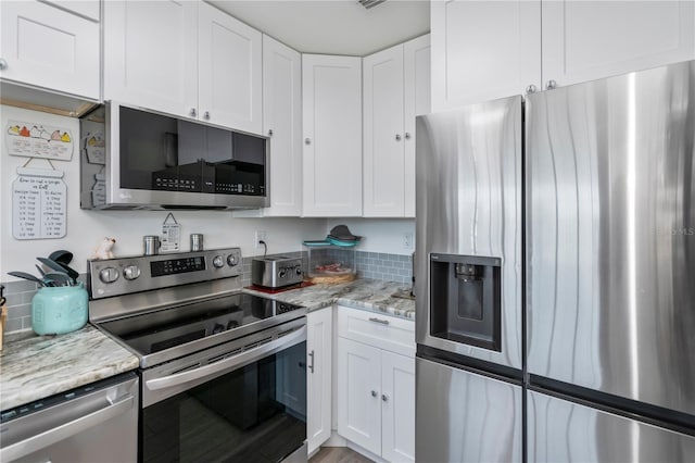
[[[0,354],[0,410],[128,372],[138,358],[91,325],[60,336],[5,336]]]

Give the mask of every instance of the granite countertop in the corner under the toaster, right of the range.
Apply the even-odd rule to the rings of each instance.
[[[368,278],[339,285],[312,285],[276,293],[244,288],[249,293],[304,305],[309,312],[338,303],[415,321],[415,301],[392,296],[395,292],[408,293],[409,290],[410,288],[402,283]]]

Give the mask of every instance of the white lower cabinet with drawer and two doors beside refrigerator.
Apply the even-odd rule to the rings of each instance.
[[[387,461],[414,461],[414,326],[412,346],[402,343],[404,326],[407,331],[414,324],[354,309],[338,311],[338,434]],[[369,338],[375,342],[365,343]]]

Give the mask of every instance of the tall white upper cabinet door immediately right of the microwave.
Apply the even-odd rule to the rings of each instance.
[[[270,137],[270,208],[302,214],[302,55],[263,36],[263,133]]]

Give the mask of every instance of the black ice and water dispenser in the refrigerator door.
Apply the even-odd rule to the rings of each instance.
[[[430,335],[500,351],[502,260],[430,254]]]

